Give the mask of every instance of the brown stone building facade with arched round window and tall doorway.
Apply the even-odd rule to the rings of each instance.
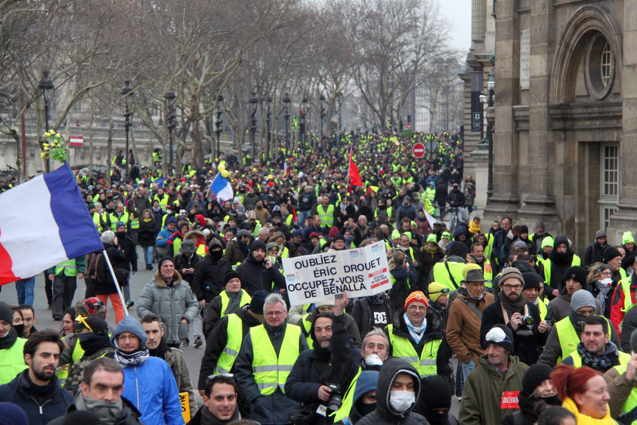
[[[576,252],[600,228],[610,243],[637,229],[635,6],[497,0],[487,220],[542,219]]]

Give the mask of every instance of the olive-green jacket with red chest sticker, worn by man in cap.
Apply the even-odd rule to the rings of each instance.
[[[494,368],[489,356],[480,356],[479,368],[464,378],[464,391],[458,421],[462,425],[494,425],[519,409],[502,409],[500,400],[505,391],[521,391],[522,377],[529,368],[515,356],[508,357],[508,370],[503,374]]]

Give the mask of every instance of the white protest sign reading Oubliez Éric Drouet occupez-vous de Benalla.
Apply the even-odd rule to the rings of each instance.
[[[348,298],[364,297],[392,287],[382,242],[282,261],[290,305],[330,301],[343,292]]]

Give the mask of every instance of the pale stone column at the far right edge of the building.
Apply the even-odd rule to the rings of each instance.
[[[606,229],[609,243],[619,244],[622,233],[637,228],[637,20],[634,2],[624,2],[622,57],[622,136],[619,143],[619,210]]]

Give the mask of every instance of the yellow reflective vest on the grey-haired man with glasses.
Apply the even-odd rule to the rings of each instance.
[[[259,392],[264,396],[274,393],[277,387],[285,394],[285,380],[299,357],[300,338],[301,328],[289,323],[285,325],[285,335],[277,357],[266,328],[263,325],[250,328],[252,374]]]

